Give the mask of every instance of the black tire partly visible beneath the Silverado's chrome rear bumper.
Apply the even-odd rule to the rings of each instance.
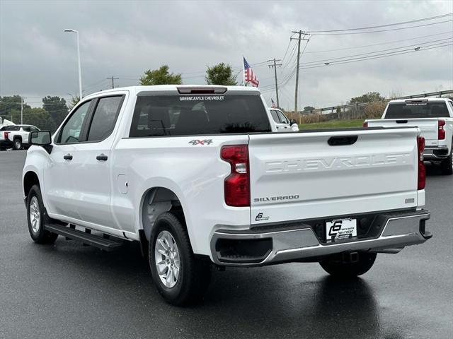
[[[376,260],[376,253],[358,252],[358,261],[344,262],[343,254],[328,256],[319,261],[321,267],[336,278],[354,278],[367,273]]]

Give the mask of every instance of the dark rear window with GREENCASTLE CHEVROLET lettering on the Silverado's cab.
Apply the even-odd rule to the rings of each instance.
[[[270,132],[258,95],[139,96],[130,137]]]

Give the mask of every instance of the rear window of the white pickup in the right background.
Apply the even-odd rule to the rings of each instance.
[[[406,102],[389,104],[385,119],[447,118],[445,102]]]

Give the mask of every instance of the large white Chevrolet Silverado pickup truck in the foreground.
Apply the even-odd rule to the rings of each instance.
[[[28,230],[110,251],[137,241],[172,304],[213,266],[319,262],[361,275],[432,237],[419,129],[276,132],[256,88],[159,85],[84,97],[31,132]]]

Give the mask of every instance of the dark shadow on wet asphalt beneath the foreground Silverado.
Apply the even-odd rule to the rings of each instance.
[[[135,245],[105,253],[60,237],[55,246],[40,246],[38,256],[46,256],[40,260],[55,270],[62,269],[59,265],[70,268],[59,281],[67,288],[91,291],[96,286],[86,295],[85,308],[96,309],[103,301],[109,314],[127,314],[125,323],[137,323],[144,333],[162,317],[166,326],[160,334],[170,338],[403,338],[380,321],[379,305],[365,279],[336,280],[317,263],[213,270],[200,304],[173,307],[156,292],[148,263]],[[150,313],[156,319],[151,321]]]

